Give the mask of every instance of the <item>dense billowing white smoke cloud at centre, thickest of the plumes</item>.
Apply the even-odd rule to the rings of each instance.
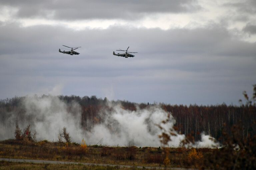
[[[157,106],[129,111],[117,105],[111,113],[107,113],[103,124],[95,126],[92,132],[87,132],[87,137],[92,143],[97,143],[103,138],[102,142],[107,145],[161,146],[158,135],[162,131],[156,125],[162,124],[166,118],[167,113]],[[174,124],[175,120],[171,119],[162,127],[168,130],[168,127],[172,128]],[[178,146],[184,137],[177,134],[172,137],[169,145]]]

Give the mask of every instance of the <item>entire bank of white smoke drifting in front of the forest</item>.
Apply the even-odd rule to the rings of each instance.
[[[104,119],[99,124],[87,131],[81,125],[81,106],[76,102],[66,104],[58,97],[25,97],[23,100],[24,111],[8,113],[6,121],[2,121],[0,140],[14,138],[15,122],[20,128],[31,125],[36,130],[38,140],[47,139],[57,141],[59,130],[67,128],[71,140],[80,143],[84,138],[89,145],[102,144],[109,146],[161,146],[159,135],[163,131],[176,134],[171,136],[169,146],[178,147],[185,138],[173,129],[176,121],[170,115],[165,124],[168,113],[159,106],[148,106],[145,109],[137,108],[136,111],[125,110],[121,105],[109,103],[110,110],[102,110]],[[112,106],[113,105],[113,106]],[[104,114],[103,114],[104,112]],[[157,125],[160,125],[160,129]],[[208,135],[202,134],[201,141],[196,142],[196,147],[212,147],[214,142]]]

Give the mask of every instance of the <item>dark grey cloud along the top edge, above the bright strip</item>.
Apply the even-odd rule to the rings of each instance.
[[[77,19],[139,19],[145,14],[193,12],[200,9],[196,0],[6,0],[1,5],[18,8],[18,18]]]

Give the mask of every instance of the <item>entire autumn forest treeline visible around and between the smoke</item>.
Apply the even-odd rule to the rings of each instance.
[[[47,98],[49,96],[36,96],[37,98]],[[101,99],[96,96],[58,96],[67,106],[76,102],[81,106],[80,126],[84,130],[91,130],[94,125],[104,122],[106,112],[111,112],[111,106],[107,98]],[[14,97],[0,100],[0,124],[4,125],[12,114],[20,120],[25,119],[26,110],[23,105],[25,97]],[[151,104],[137,104],[129,101],[111,101],[112,106],[120,104],[123,109],[136,111],[152,106]],[[162,109],[171,112],[176,120],[175,126],[181,134],[191,135],[195,140],[200,139],[200,133],[205,132],[223,142],[223,131],[231,134],[232,127],[236,128],[239,138],[245,139],[256,134],[256,106],[252,104],[234,105],[167,105],[160,104]],[[69,111],[70,109],[70,111]],[[72,113],[71,108],[67,108]],[[15,122],[13,122],[15,124]]]

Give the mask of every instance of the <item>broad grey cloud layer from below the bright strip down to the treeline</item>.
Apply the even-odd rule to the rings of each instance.
[[[256,82],[255,43],[218,26],[201,29],[73,31],[63,27],[0,27],[0,98],[47,94],[97,95],[113,88],[115,99],[171,104],[237,103]],[[82,46],[80,55],[58,52]],[[112,55],[118,48],[134,58]],[[211,97],[209,97],[211,96]]]

